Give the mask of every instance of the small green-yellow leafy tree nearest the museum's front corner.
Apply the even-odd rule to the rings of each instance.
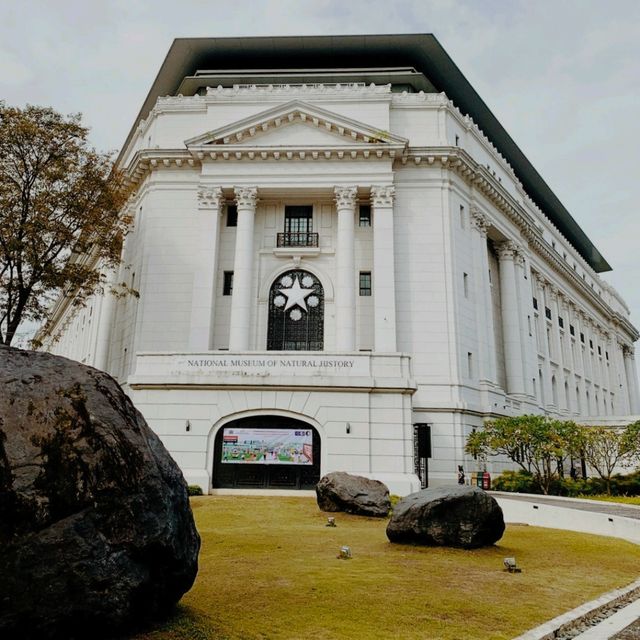
[[[533,474],[546,495],[566,458],[579,451],[580,427],[570,421],[525,415],[498,418],[469,435],[465,450],[484,458],[503,455]]]

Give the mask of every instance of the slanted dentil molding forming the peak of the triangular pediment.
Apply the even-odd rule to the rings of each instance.
[[[301,100],[291,100],[285,104],[279,104],[276,107],[266,109],[224,127],[185,140],[185,145],[188,149],[201,150],[202,148],[211,150],[213,146],[234,146],[243,140],[246,142],[252,138],[260,137],[269,130],[278,129],[293,122],[303,123],[308,127],[326,131],[341,138],[343,141],[347,139],[349,144],[371,146],[373,148],[376,146],[392,146],[397,151],[404,150],[408,144],[406,138],[396,136],[389,131],[382,131],[363,122],[347,118]],[[324,145],[320,146],[323,147]]]

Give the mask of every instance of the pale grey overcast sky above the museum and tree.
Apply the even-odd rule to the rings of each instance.
[[[437,36],[640,325],[639,0],[5,0],[0,99],[82,112],[117,150],[173,38],[353,33]]]

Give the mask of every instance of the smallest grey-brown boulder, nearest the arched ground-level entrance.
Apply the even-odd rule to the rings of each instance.
[[[384,518],[391,508],[389,489],[378,481],[352,476],[344,471],[328,473],[316,485],[322,511],[344,511],[361,516]]]

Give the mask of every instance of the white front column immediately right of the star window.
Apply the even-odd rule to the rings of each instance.
[[[336,349],[356,348],[355,211],[357,187],[335,187],[338,213],[336,242]],[[374,276],[375,286],[375,276]]]

